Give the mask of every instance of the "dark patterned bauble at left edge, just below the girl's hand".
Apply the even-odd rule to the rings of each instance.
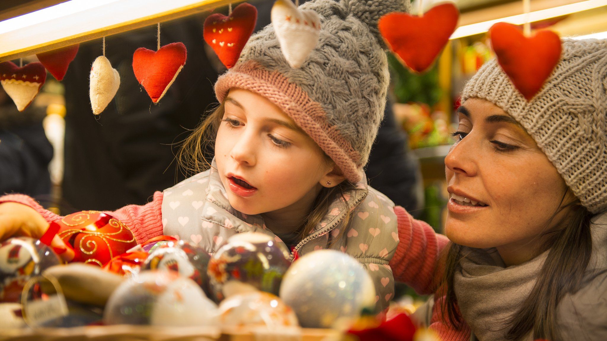
[[[53,265],[58,255],[30,237],[10,238],[0,243],[0,302],[20,302],[25,283]]]

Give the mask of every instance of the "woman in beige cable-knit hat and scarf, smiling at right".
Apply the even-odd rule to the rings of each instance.
[[[529,103],[496,61],[462,99],[450,241],[396,209],[395,279],[435,292],[416,317],[444,340],[607,340],[607,40],[564,39]]]

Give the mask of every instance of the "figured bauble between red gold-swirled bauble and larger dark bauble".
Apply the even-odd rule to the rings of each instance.
[[[206,268],[210,259],[211,256],[204,249],[187,241],[168,241],[153,249],[141,269],[176,271],[179,275],[194,280],[208,294]]]

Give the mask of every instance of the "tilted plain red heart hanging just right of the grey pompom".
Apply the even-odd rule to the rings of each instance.
[[[455,31],[459,10],[452,3],[430,8],[423,16],[388,13],[378,22],[386,43],[413,72],[424,72]]]

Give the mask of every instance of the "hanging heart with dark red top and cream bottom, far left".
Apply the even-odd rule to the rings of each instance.
[[[10,61],[0,63],[0,84],[19,111],[32,104],[44,81],[46,69],[40,62],[30,62],[24,67]]]

